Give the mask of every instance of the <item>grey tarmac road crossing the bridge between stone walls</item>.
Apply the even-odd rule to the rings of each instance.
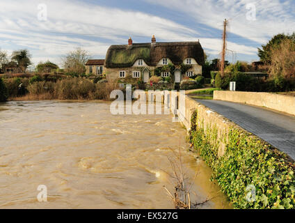
[[[295,160],[295,117],[269,109],[220,100],[198,100]]]

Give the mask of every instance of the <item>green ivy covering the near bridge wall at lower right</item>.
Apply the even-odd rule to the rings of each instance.
[[[284,153],[244,130],[231,128],[228,137],[222,137],[214,128],[198,126],[200,122],[195,112],[190,141],[212,167],[213,178],[234,208],[294,208],[294,165]],[[222,157],[218,157],[220,143],[225,144]],[[255,187],[254,201],[246,199],[248,185]]]

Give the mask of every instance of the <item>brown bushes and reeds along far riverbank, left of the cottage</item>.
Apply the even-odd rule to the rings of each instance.
[[[8,100],[109,100],[117,82],[95,82],[82,77],[43,80],[38,76],[3,79]],[[4,91],[3,91],[4,92]]]

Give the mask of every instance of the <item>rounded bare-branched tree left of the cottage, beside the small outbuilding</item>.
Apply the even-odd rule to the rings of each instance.
[[[85,63],[88,59],[90,59],[89,52],[78,47],[63,57],[63,66],[66,72],[82,75],[86,72]]]

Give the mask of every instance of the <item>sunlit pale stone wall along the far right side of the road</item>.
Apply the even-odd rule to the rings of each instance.
[[[295,115],[295,97],[276,93],[214,91],[214,100],[244,103]]]

